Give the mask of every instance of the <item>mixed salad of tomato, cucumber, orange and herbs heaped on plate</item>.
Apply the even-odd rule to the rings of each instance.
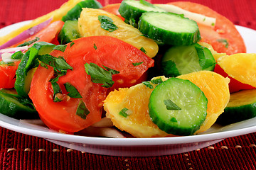
[[[1,38],[0,113],[68,134],[196,135],[255,117],[245,52],[201,4],[70,0]]]

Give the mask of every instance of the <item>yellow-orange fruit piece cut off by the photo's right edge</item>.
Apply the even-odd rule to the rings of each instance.
[[[220,57],[217,62],[230,77],[256,87],[256,54],[227,55]]]

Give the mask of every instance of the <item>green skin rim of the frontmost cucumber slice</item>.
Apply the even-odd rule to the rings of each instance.
[[[176,78],[176,77],[171,77],[171,78],[169,78],[169,79],[178,79],[178,78]],[[169,79],[167,79],[166,81],[164,81],[164,82],[169,82]],[[188,82],[190,82],[191,84],[193,84],[191,81],[189,81],[189,80],[187,80],[187,79],[181,79],[181,80],[183,80],[183,81],[188,81]],[[164,82],[163,83],[161,83],[161,84],[164,84]],[[160,84],[159,84],[160,85]],[[159,86],[159,85],[157,85],[157,86]],[[157,89],[158,87],[155,87],[155,89]],[[162,85],[161,85],[162,86]],[[201,91],[201,89],[198,87],[198,86],[196,86],[196,84],[193,84],[193,86],[196,88],[196,89],[198,89],[199,91]],[[154,89],[154,90],[155,90]],[[152,94],[154,95],[154,90],[152,91],[152,93],[151,93],[151,96],[152,96]],[[208,104],[208,99],[206,98],[206,96],[205,96],[205,94],[203,93],[203,91],[201,91],[201,93],[203,94],[203,96],[204,96],[204,98],[205,98],[205,100],[206,100],[206,110],[207,110],[207,104]],[[181,128],[178,128],[178,126],[174,126],[174,125],[170,125],[170,124],[168,124],[168,123],[165,123],[165,121],[164,120],[161,120],[161,118],[159,118],[159,117],[161,117],[161,116],[159,116],[159,114],[157,113],[157,111],[155,111],[155,107],[153,107],[153,106],[151,106],[152,104],[151,103],[154,103],[154,102],[152,102],[153,101],[153,99],[151,98],[151,96],[150,96],[150,98],[149,98],[149,106],[148,106],[148,108],[149,108],[149,116],[150,116],[150,118],[151,118],[151,120],[152,120],[152,122],[154,123],[154,124],[156,124],[158,127],[159,127],[159,129],[161,129],[161,130],[163,130],[164,132],[166,132],[166,133],[169,133],[169,134],[172,134],[172,135],[193,135],[197,130],[199,130],[200,128],[201,128],[201,125],[203,124],[203,122],[206,120],[206,115],[207,115],[207,112],[205,111],[204,113],[203,113],[203,119],[201,119],[201,121],[199,121],[199,123],[198,123],[198,125],[196,125],[196,126],[194,126],[194,127],[191,127],[191,128],[184,128],[184,127],[181,127]]]

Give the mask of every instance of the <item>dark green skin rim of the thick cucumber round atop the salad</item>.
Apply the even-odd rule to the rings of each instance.
[[[170,12],[150,11],[150,12],[142,13],[142,16],[139,18],[138,29],[144,35],[146,35],[146,37],[151,38],[153,40],[160,41],[160,42],[164,42],[167,45],[193,45],[194,43],[201,40],[201,34],[199,31],[199,28],[197,28],[196,33],[174,33],[169,30],[158,28],[157,26],[153,26],[151,25],[151,23],[144,21],[143,18],[147,13],[169,13],[171,15],[182,17],[182,19],[188,19],[186,17],[183,17],[180,14],[170,13]],[[196,23],[196,21],[193,21],[193,22]]]

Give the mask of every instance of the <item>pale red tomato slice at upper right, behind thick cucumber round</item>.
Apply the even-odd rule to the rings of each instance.
[[[216,24],[214,27],[198,24],[202,41],[208,42],[212,45],[215,51],[224,52],[227,53],[227,55],[246,52],[245,42],[242,40],[240,33],[238,33],[235,25],[229,21],[228,18],[225,18],[225,16],[213,11],[208,8],[208,6],[203,6],[193,2],[177,1],[169,4],[173,4],[187,11],[201,13],[205,16],[216,18]],[[228,48],[225,47],[223,42],[220,42],[222,39],[228,41]]]

